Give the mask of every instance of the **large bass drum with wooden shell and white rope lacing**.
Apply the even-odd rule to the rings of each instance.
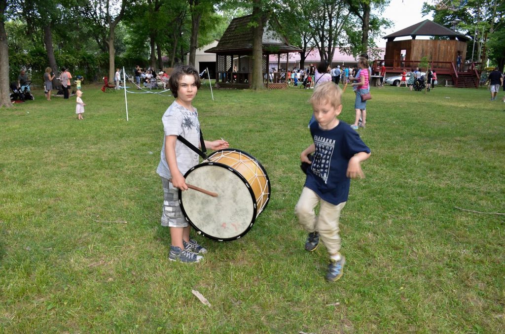
[[[223,149],[191,168],[188,184],[218,194],[179,190],[179,203],[198,234],[218,241],[241,238],[270,199],[270,181],[261,163],[237,149]]]

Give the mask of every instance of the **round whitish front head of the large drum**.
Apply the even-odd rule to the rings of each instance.
[[[218,241],[242,237],[254,224],[257,207],[247,181],[227,165],[204,162],[194,166],[186,182],[218,194],[212,197],[196,190],[179,190],[182,212],[199,234]]]

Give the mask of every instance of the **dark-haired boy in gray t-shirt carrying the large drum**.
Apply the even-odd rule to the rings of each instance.
[[[157,173],[162,179],[163,213],[161,225],[170,227],[169,259],[185,263],[198,262],[207,250],[189,238],[191,227],[179,207],[178,190],[185,191],[184,174],[198,164],[198,154],[177,140],[182,136],[195,147],[200,143],[200,123],[192,101],[200,88],[198,71],[192,66],[177,67],[169,79],[175,101],[162,117],[165,137]],[[218,150],[229,147],[225,140],[205,141],[205,146]]]

